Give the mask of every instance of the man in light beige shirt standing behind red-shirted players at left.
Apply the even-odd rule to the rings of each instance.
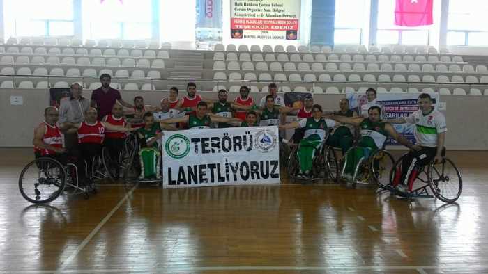
[[[90,100],[82,96],[83,86],[81,83],[72,83],[70,86],[70,97],[61,99],[59,104],[59,123],[70,122],[77,124],[85,120],[84,113],[90,107]],[[73,150],[78,143],[77,134],[64,134],[64,145],[66,149]]]

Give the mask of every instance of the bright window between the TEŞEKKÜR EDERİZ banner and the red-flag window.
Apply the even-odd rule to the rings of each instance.
[[[335,1],[335,44],[361,44],[363,42],[363,24],[369,14],[369,1],[340,0]]]

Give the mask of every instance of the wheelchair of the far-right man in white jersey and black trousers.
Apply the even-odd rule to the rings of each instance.
[[[456,202],[462,192],[462,176],[455,163],[445,156],[445,148],[441,154],[441,163],[435,163],[432,160],[429,164],[418,168],[415,180],[412,181],[411,186],[408,186],[409,193],[396,191],[393,181],[406,154],[408,152],[403,154],[390,170],[388,184],[378,184],[380,188],[409,199],[435,197],[448,204]],[[427,191],[427,187],[432,194]]]

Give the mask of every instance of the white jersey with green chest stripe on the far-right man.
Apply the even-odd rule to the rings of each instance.
[[[415,124],[415,140],[417,140],[417,145],[424,147],[436,147],[437,134],[448,131],[444,115],[435,109],[427,115],[424,115],[419,109],[405,120],[409,124]]]

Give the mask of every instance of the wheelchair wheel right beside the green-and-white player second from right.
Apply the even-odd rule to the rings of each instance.
[[[390,184],[391,170],[395,166],[395,159],[386,150],[377,150],[369,158],[370,179],[380,188],[386,188]]]

